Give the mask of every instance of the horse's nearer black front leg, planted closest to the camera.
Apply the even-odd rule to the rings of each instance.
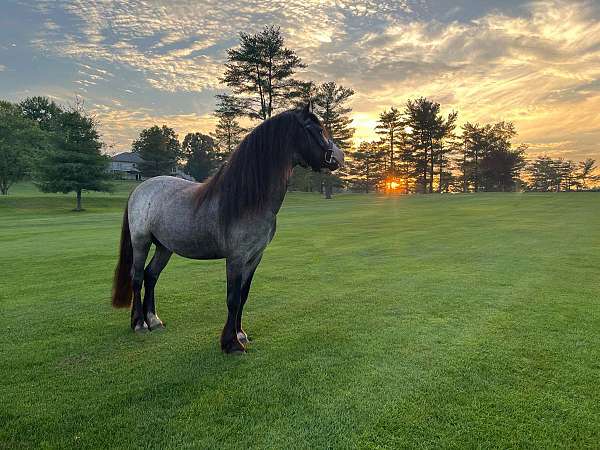
[[[238,339],[237,317],[241,304],[243,265],[227,260],[227,321],[221,333],[221,350],[225,353],[246,351]]]

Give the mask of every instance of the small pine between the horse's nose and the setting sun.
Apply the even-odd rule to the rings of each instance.
[[[355,190],[369,193],[385,178],[386,152],[380,142],[361,142],[358,150],[350,153],[348,181]]]

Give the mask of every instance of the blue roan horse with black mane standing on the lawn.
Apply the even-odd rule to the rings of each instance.
[[[225,259],[227,320],[221,350],[246,351],[242,312],[296,165],[316,172],[344,165],[344,153],[309,105],[262,122],[204,183],[158,176],[134,189],[123,214],[112,289],[114,307],[131,307],[134,332],[164,328],[154,289],[173,253]],[[155,251],[145,266],[152,244]]]

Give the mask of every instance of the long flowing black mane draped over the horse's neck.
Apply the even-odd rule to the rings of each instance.
[[[221,225],[263,211],[272,194],[284,189],[292,170],[289,148],[300,122],[293,111],[268,119],[248,134],[217,173],[198,188],[198,204],[219,197]]]

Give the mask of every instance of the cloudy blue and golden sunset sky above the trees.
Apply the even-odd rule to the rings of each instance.
[[[600,1],[0,0],[0,99],[76,95],[107,151],[167,124],[208,132],[226,50],[280,26],[300,79],[351,87],[357,142],[425,96],[513,121],[529,155],[600,160]]]

